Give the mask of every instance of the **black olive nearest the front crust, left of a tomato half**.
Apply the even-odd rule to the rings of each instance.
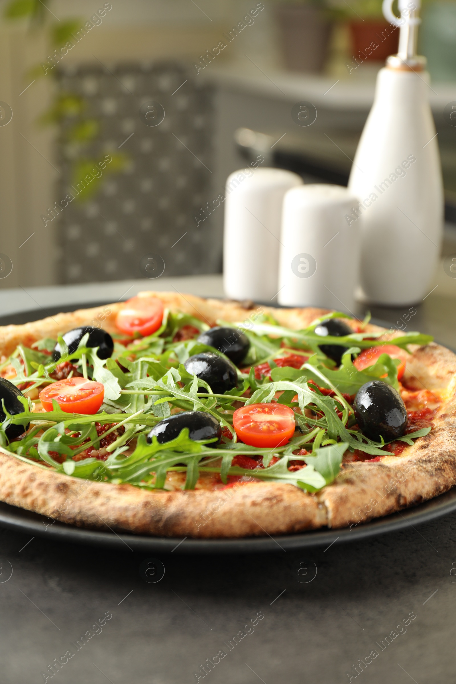
[[[147,441],[152,444],[152,437],[157,437],[160,444],[170,442],[179,436],[184,429],[189,429],[189,438],[194,440],[200,439],[214,439],[216,442],[211,442],[209,447],[215,447],[222,438],[222,428],[219,421],[211,416],[209,413],[202,413],[200,411],[185,411],[183,413],[175,413],[163,421],[155,425],[155,428],[150,430]]]

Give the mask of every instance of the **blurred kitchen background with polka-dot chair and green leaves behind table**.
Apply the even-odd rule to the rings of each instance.
[[[423,4],[450,254],[456,2]],[[258,164],[346,185],[377,71],[397,51],[381,0],[0,8],[0,288],[145,278],[150,263],[221,272],[228,174]],[[293,114],[303,102],[310,126]]]

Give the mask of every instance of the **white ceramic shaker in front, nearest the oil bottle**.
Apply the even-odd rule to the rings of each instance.
[[[358,200],[340,185],[303,185],[286,193],[278,300],[352,313],[358,284],[358,225],[347,220]]]

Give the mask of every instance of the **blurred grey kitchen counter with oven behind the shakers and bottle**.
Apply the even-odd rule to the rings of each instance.
[[[255,154],[255,159],[263,156],[263,166],[296,170],[294,157],[305,158],[310,166],[323,166],[340,176],[326,182],[346,183],[380,66],[364,64],[358,72],[339,78],[269,71],[254,64],[254,55],[252,59],[245,58],[241,66],[209,64],[198,74],[214,90],[213,198],[209,201],[224,191],[232,172],[252,163],[236,142],[239,129],[265,134],[265,145]],[[438,131],[446,203],[452,209],[447,210],[447,220],[456,222],[456,129],[444,119],[444,107],[456,101],[456,83],[431,83],[429,100]],[[317,119],[311,126],[293,120],[291,108],[299,102],[316,107]],[[321,182],[310,176],[304,180]],[[223,211],[214,211],[211,222],[214,231],[222,231]]]

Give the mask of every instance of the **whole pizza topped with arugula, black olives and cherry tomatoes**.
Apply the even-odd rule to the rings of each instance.
[[[368,317],[143,292],[0,356],[0,500],[69,525],[291,534],[456,483],[455,354]]]

